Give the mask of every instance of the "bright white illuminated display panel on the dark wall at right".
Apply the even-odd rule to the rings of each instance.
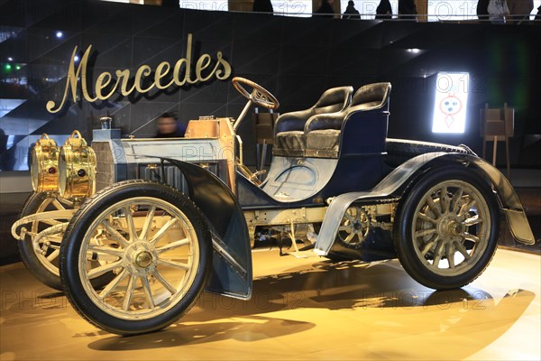
[[[433,133],[464,133],[469,73],[437,73]]]

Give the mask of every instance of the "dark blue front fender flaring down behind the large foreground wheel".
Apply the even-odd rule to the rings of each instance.
[[[213,242],[212,272],[206,291],[248,300],[252,297],[252,253],[243,209],[215,174],[196,164],[170,162],[188,183],[188,196],[206,218]]]

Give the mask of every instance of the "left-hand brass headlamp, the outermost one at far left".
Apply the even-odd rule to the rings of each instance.
[[[31,151],[30,174],[36,192],[54,192],[59,188],[59,147],[48,134],[42,134]]]

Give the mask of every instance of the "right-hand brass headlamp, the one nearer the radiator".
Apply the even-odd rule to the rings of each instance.
[[[77,130],[60,148],[59,191],[67,199],[90,197],[96,191],[96,153]]]

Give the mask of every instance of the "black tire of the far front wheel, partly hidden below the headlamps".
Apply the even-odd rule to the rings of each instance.
[[[21,213],[19,214],[19,219],[35,214],[41,207],[43,202],[48,198],[50,198],[50,195],[48,195],[47,193],[32,192],[32,194],[24,202]],[[29,225],[25,225],[24,227],[28,228],[30,227]],[[47,227],[49,226],[43,224],[40,225],[39,229],[43,230]],[[58,291],[62,291],[64,289],[63,284],[60,281],[60,274],[50,272],[49,269],[47,269],[43,264],[41,264],[40,260],[38,259],[38,255],[36,255],[35,251],[33,250],[31,236],[26,235],[23,241],[17,242],[17,245],[19,246],[19,254],[21,255],[23,264],[26,266],[28,271],[32,273],[32,276],[34,276],[38,281],[49,286],[50,288]]]

